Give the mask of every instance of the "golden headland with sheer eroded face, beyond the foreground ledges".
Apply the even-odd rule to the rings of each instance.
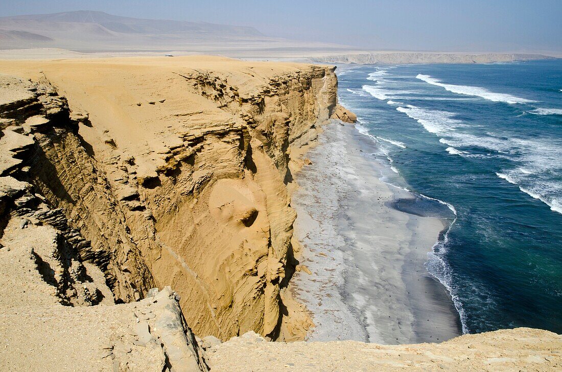
[[[291,150],[336,107],[333,68],[191,57],[2,70],[31,79],[29,104],[46,112],[4,114],[4,137],[29,142],[18,179],[65,219],[77,260],[117,302],[171,286],[201,336],[302,337],[310,321],[281,300],[294,267],[286,186]]]

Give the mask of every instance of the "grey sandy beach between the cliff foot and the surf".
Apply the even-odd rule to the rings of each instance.
[[[312,164],[296,174],[302,247],[291,283],[316,325],[308,341],[441,342],[460,334],[445,287],[424,266],[448,220],[393,208],[414,194],[379,179],[392,172],[373,156],[379,152],[355,126],[332,122],[307,151]]]

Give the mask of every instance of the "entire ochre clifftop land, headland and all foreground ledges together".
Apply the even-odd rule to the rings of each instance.
[[[319,128],[354,118],[334,70],[0,61],[0,369],[560,369],[561,337],[534,329],[300,342],[289,191]]]

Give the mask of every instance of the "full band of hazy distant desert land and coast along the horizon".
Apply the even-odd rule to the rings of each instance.
[[[92,55],[92,52],[174,52],[174,55],[221,54],[327,63],[482,63],[545,58],[506,53],[468,56],[467,53],[455,52],[371,52],[348,45],[274,38],[253,27],[136,19],[97,11],[0,17],[0,50],[3,50],[0,58],[8,55],[17,57],[28,52],[31,53],[26,54],[28,58],[44,56],[45,53],[62,58],[68,55],[64,50],[71,50],[72,56],[76,56],[76,52],[87,55]]]

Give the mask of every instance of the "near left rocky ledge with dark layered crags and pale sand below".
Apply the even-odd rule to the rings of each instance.
[[[48,82],[0,77],[2,369],[206,369],[178,295],[153,288],[142,301],[115,305],[110,287],[126,293],[127,283],[151,284],[146,265],[140,256],[132,261],[146,276],[128,281],[130,272],[117,266],[124,252],[86,240],[56,208],[93,203],[81,194],[93,195],[99,208],[108,195],[77,126],[66,99]],[[82,190],[66,190],[68,180]]]

